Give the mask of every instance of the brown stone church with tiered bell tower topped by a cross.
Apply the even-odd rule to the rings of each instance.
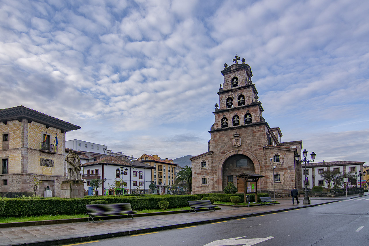
[[[224,83],[217,92],[208,152],[190,158],[193,193],[222,192],[229,182],[244,192],[237,177],[243,173],[265,176],[257,182],[258,189],[273,189],[273,180],[276,189],[302,188],[301,164],[295,161],[302,141],[281,142],[279,127],[269,127],[262,117],[250,66],[244,58],[238,64],[238,56],[233,61],[221,71]]]

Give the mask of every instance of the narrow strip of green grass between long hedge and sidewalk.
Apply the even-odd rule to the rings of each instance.
[[[190,210],[190,207],[183,208],[169,208],[166,211],[178,211],[178,210]],[[163,212],[162,209],[147,209],[137,211],[137,213],[155,213]],[[42,215],[42,216],[24,216],[24,217],[0,217],[0,223],[10,223],[10,222],[25,222],[25,221],[49,221],[54,219],[74,219],[74,218],[87,218],[86,214],[76,214],[76,215]]]

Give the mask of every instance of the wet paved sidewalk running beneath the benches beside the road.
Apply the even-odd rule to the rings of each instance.
[[[356,198],[358,195],[350,195]],[[252,207],[220,206],[221,210],[201,211],[197,213],[176,213],[168,215],[142,216],[135,219],[108,219],[104,221],[75,222],[52,225],[20,226],[0,228],[0,246],[5,245],[60,245],[78,243],[115,236],[125,236],[138,233],[148,233],[158,230],[180,228],[186,226],[213,223],[229,219],[238,219],[280,211],[287,211],[307,206],[317,206],[346,199],[338,198],[311,198],[310,205],[292,205],[291,198],[278,198],[280,204]]]

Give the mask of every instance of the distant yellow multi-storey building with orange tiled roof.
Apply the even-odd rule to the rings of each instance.
[[[177,164],[173,163],[173,160],[168,160],[168,158],[161,160],[158,155],[149,156],[147,154],[143,154],[137,158],[137,160],[155,167],[155,169],[151,171],[151,177],[154,184],[156,184],[159,193],[165,193],[165,186],[172,185],[174,183]]]

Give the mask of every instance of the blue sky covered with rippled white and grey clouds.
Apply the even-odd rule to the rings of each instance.
[[[134,157],[196,156],[237,54],[282,141],[369,163],[368,13],[361,0],[0,0],[0,108]]]

